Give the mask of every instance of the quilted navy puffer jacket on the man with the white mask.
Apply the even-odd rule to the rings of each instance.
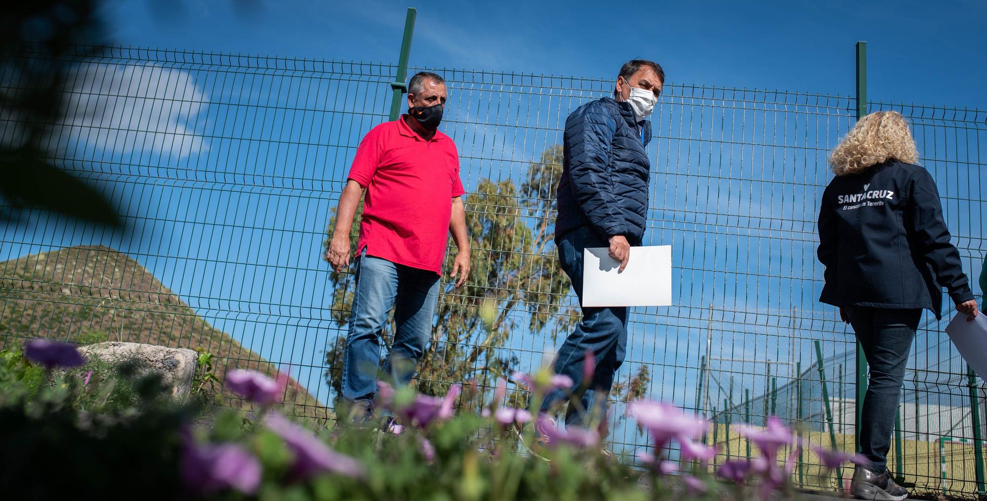
[[[651,122],[635,122],[630,104],[587,103],[566,120],[556,240],[590,225],[603,237],[623,235],[640,246],[647,219]]]

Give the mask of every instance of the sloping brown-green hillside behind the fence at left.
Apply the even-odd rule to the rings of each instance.
[[[140,263],[102,246],[0,262],[0,348],[31,337],[201,348],[216,355],[220,378],[236,368],[278,374],[273,364],[196,315]],[[225,390],[223,396],[231,406],[245,406]],[[298,415],[334,417],[294,380],[284,402]]]

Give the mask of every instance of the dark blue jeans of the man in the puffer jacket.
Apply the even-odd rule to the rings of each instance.
[[[569,275],[572,289],[582,304],[582,251],[586,248],[610,247],[607,239],[588,227],[576,228],[559,237],[559,261],[563,271]],[[606,412],[606,398],[614,385],[614,374],[624,363],[627,351],[627,316],[624,308],[583,308],[582,322],[579,322],[556,355],[555,372],[572,378],[575,392],[582,386],[583,362],[586,351],[593,353],[595,369],[589,388],[583,394],[574,394],[579,405],[569,404],[566,412],[567,425],[585,425],[588,416],[603,416]],[[546,395],[542,410],[566,396],[565,391],[557,390]],[[602,401],[596,401],[602,397]]]

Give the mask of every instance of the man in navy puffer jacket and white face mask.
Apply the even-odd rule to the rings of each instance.
[[[664,84],[661,66],[628,61],[620,70],[613,98],[576,108],[566,120],[556,245],[562,268],[582,301],[582,254],[585,248],[609,248],[627,266],[631,246],[640,246],[647,219],[650,164],[645,147],[651,138],[647,120]],[[557,374],[569,376],[580,405],[569,405],[566,423],[602,416],[614,373],[627,347],[627,308],[583,308],[582,322],[559,349]],[[591,359],[587,360],[587,357]],[[586,380],[589,385],[583,385]],[[543,410],[565,391],[548,394]]]

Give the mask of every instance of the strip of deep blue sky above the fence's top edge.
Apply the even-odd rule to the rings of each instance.
[[[871,100],[987,107],[987,3],[830,2],[113,2],[123,44],[396,62],[418,9],[413,65],[612,77],[632,57],[677,84],[853,95],[867,40]]]

